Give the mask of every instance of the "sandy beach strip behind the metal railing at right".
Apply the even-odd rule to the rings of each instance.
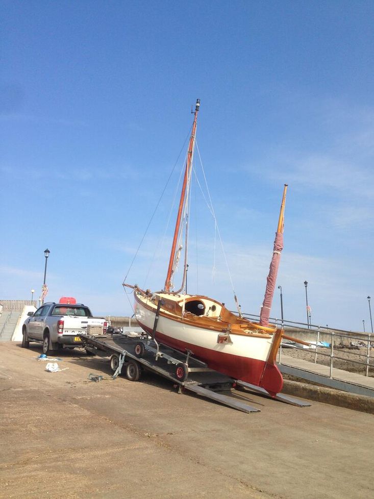
[[[305,350],[303,348],[282,348],[282,355],[287,357],[295,357],[297,359],[314,362],[315,350]],[[318,348],[317,364],[330,365],[331,348]],[[361,346],[356,349],[349,348],[334,348],[334,364],[337,369],[344,369],[350,372],[357,372],[365,375],[366,365],[360,365],[357,362],[366,363],[367,346]],[[370,348],[369,357],[369,376],[374,377],[374,347]],[[370,367],[370,364],[373,367]]]

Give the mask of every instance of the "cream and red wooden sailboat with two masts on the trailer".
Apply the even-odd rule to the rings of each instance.
[[[282,374],[276,363],[283,330],[270,325],[268,318],[283,247],[287,185],[284,186],[273,258],[259,322],[243,317],[239,306],[236,314],[214,298],[186,293],[187,240],[182,286],[177,291],[173,290],[172,279],[182,246],[182,225],[183,221],[188,223],[185,214],[188,208],[199,109],[200,99],[197,99],[164,288],[152,292],[140,289],[137,285],[123,283],[123,286],[133,289],[134,312],[139,326],[153,335],[159,343],[183,353],[190,353],[208,367],[233,379],[262,387],[271,396],[276,396],[283,386]],[[186,234],[187,232],[186,230]],[[236,296],[234,298],[237,304]],[[177,377],[182,379],[183,376],[183,369],[177,368]]]

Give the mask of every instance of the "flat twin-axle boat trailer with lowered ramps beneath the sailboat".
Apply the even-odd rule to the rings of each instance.
[[[242,412],[260,412],[257,407],[242,402],[232,388],[250,390],[298,407],[309,403],[279,393],[271,397],[266,390],[210,369],[207,364],[193,357],[192,352],[183,354],[169,346],[149,341],[146,333],[114,333],[102,335],[80,334],[84,348],[89,355],[110,357],[113,378],[123,373],[130,381],[138,381],[143,370],[156,373],[173,382],[179,393],[196,393],[215,402]],[[229,395],[221,393],[229,392]]]

